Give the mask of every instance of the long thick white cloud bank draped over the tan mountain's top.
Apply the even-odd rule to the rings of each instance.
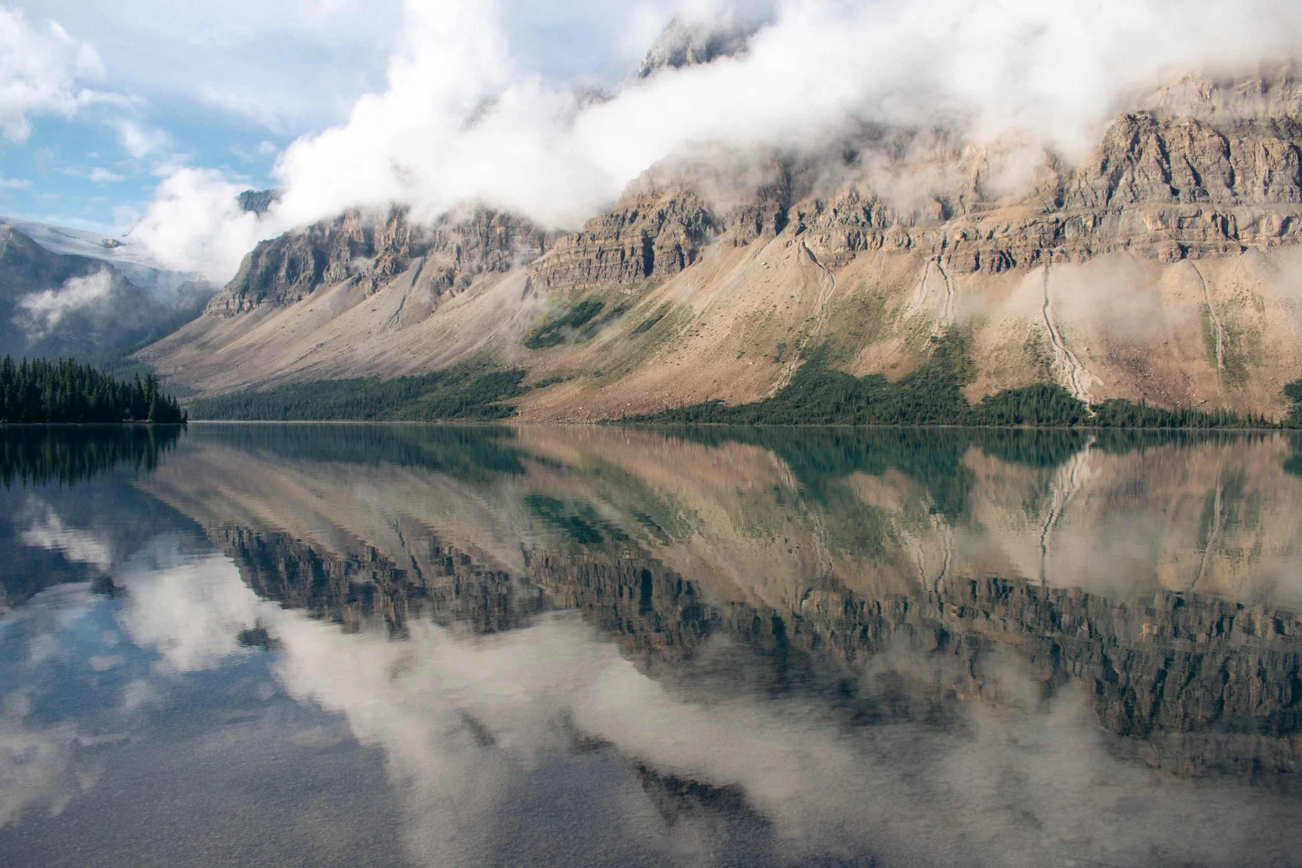
[[[665,157],[719,148],[815,154],[868,124],[1016,141],[1078,159],[1108,121],[1173,77],[1251,73],[1298,56],[1290,0],[781,0],[691,4],[746,51],[629,78],[613,94],[544,83],[512,55],[505,4],[409,0],[388,88],[346,124],[296,141],[267,213],[238,185],[186,168],[134,230],[171,267],[229,278],[259,239],[354,206],[430,220],[462,203],[575,228]]]

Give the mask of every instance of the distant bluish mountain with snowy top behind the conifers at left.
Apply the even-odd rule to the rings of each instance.
[[[53,234],[55,228],[44,229],[49,232],[39,234]],[[60,242],[86,245],[72,234]],[[161,301],[112,264],[115,249],[103,250],[96,258],[55,252],[0,224],[0,355],[86,358],[132,350],[194,319],[211,297],[187,277],[174,282],[173,273],[120,263],[135,275],[152,275],[148,282]]]

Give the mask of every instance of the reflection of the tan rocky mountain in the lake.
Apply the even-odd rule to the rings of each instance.
[[[815,691],[853,724],[1079,691],[1117,751],[1169,772],[1292,789],[1302,763],[1302,484],[1280,437],[962,432],[927,454],[906,431],[388,428],[398,459],[354,462],[250,431],[145,487],[260,596],[348,629],[578,609],[686,691]],[[734,677],[682,665],[704,655]]]

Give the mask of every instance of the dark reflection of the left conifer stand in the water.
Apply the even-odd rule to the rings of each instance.
[[[0,483],[72,485],[120,466],[148,472],[182,431],[181,426],[10,426],[0,432]]]

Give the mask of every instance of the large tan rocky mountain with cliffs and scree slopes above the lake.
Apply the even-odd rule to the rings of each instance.
[[[743,49],[669,36],[648,74]],[[569,233],[349,211],[260,243],[142,358],[210,393],[490,360],[555,383],[523,418],[591,420],[760,400],[816,347],[896,380],[958,332],[973,401],[1047,383],[1282,416],[1302,376],[1298,81],[1174,79],[1072,163],[871,126],[684,157]]]

